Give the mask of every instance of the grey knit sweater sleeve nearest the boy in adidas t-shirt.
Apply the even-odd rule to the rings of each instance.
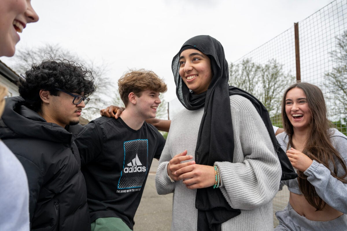
[[[167,143],[169,139],[170,137],[168,135]],[[161,157],[159,159],[158,169],[156,170],[156,174],[155,174],[155,187],[156,187],[156,192],[159,195],[164,195],[164,194],[169,194],[174,192],[175,183],[179,182],[179,181],[171,182],[169,178],[167,166],[171,159],[172,159],[172,155],[170,153],[169,147],[168,145],[165,145],[161,153]]]

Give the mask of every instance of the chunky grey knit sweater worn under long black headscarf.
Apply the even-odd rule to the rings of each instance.
[[[270,136],[252,103],[238,95],[230,96],[234,129],[234,162],[215,162],[222,185],[219,187],[232,208],[241,214],[222,224],[222,231],[273,230],[272,198],[278,192],[281,168]],[[159,160],[155,183],[158,194],[174,193],[172,231],[197,230],[195,189],[182,181],[171,183],[168,162],[188,151],[193,156],[204,109],[181,110],[171,122],[167,142]],[[214,116],[218,116],[215,112]]]

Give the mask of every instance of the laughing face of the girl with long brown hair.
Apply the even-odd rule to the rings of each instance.
[[[306,130],[312,120],[307,98],[301,88],[293,88],[286,95],[286,115],[295,130]]]

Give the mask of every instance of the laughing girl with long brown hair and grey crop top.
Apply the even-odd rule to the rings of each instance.
[[[281,182],[289,203],[276,213],[278,230],[347,230],[347,137],[330,128],[322,91],[295,83],[283,95],[285,132],[277,135],[297,179]]]

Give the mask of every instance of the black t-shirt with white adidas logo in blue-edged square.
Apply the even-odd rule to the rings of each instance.
[[[99,117],[76,137],[87,185],[91,222],[119,217],[133,229],[153,158],[160,158],[165,140],[144,122],[135,131],[121,118]]]

